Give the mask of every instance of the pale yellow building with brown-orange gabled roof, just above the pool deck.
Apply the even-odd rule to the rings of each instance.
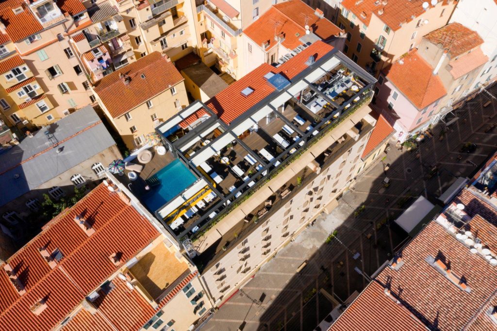
[[[153,52],[105,76],[92,90],[105,116],[132,150],[188,104],[183,81],[165,55]]]

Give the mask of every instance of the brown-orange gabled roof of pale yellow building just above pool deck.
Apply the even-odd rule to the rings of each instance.
[[[128,75],[131,82],[124,84],[120,74]],[[116,118],[183,80],[168,59],[153,52],[105,76],[94,88],[111,116]]]

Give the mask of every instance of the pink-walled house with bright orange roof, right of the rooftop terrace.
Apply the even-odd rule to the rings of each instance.
[[[419,53],[414,49],[383,71],[375,87],[375,108],[401,142],[436,122],[447,95],[441,77]]]

